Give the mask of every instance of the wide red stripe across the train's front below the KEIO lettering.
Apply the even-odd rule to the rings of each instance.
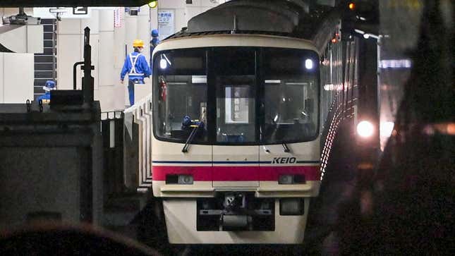
[[[154,181],[167,174],[191,174],[195,181],[278,181],[281,174],[303,174],[306,181],[320,181],[320,166],[153,166]]]

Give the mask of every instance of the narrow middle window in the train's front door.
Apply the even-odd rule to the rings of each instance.
[[[214,50],[218,143],[256,141],[255,54],[248,48]]]

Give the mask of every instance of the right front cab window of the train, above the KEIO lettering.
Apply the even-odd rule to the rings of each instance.
[[[318,130],[318,58],[310,51],[265,49],[265,144],[312,140]]]

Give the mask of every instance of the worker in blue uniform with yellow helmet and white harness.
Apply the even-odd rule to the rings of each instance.
[[[120,74],[122,84],[125,75],[128,74],[128,94],[131,106],[134,105],[134,86],[136,84],[143,85],[144,78],[148,78],[152,74],[147,59],[141,54],[144,49],[144,42],[140,39],[135,39],[133,48],[134,51],[126,57]]]

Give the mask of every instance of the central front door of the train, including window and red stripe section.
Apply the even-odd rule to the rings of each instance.
[[[216,106],[213,186],[259,186],[256,115],[256,51],[221,48],[212,52]]]

